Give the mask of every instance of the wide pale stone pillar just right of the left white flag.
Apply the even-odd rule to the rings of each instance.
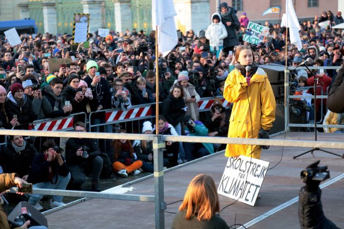
[[[198,35],[210,25],[209,0],[173,0],[175,26],[182,32],[193,29]]]

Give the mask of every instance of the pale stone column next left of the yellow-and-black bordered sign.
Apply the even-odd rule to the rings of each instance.
[[[43,1],[44,32],[57,34],[57,19],[55,1]]]

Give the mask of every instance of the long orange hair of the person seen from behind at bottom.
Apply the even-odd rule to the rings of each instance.
[[[185,210],[185,219],[210,220],[220,212],[218,192],[212,177],[200,174],[190,182],[179,211]]]

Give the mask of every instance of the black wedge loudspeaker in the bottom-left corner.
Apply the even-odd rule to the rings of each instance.
[[[30,220],[30,226],[46,226],[48,228],[47,219],[26,201],[18,203],[8,216],[8,222],[13,227],[20,227],[28,220]]]

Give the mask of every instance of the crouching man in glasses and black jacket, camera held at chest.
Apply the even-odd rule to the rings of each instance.
[[[86,125],[77,122],[75,132],[86,132]],[[66,161],[73,181],[73,188],[80,190],[86,175],[92,174],[92,191],[101,191],[99,176],[103,167],[97,140],[92,138],[69,138],[66,142]]]

